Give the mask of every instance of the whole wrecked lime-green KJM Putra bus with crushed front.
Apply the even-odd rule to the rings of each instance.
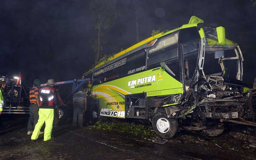
[[[220,119],[243,117],[243,55],[225,28],[192,16],[188,24],[151,36],[84,73],[98,116],[145,119],[170,138],[178,126],[209,136]]]

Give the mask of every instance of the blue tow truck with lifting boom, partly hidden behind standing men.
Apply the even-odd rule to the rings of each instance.
[[[8,76],[0,76],[0,81],[7,82],[7,88],[4,94],[3,114],[29,114],[29,90],[31,87],[26,87],[21,84],[20,76],[15,79],[10,79]],[[56,82],[54,86],[72,84],[72,91],[64,99],[67,103],[65,106],[59,106],[59,119],[64,120],[72,113],[72,98],[74,93],[83,85],[86,85],[90,78],[74,79],[68,81]],[[41,84],[41,87],[46,84]],[[71,111],[71,112],[70,112]]]

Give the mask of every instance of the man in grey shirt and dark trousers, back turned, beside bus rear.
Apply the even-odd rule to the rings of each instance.
[[[84,111],[86,111],[86,94],[83,92],[83,88],[79,88],[79,92],[76,92],[73,97],[73,127],[76,127],[78,119],[78,128],[83,127]]]

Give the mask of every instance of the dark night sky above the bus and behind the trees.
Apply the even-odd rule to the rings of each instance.
[[[256,7],[251,0],[173,1],[108,0],[119,16],[103,32],[103,52],[112,54],[136,43],[135,6],[139,14],[139,39],[153,29],[171,30],[195,15],[205,23],[219,23],[226,37],[244,54],[244,80],[256,76]],[[94,63],[92,41],[97,38],[87,0],[1,0],[0,75],[22,74],[27,85],[35,78],[46,82],[81,78]]]

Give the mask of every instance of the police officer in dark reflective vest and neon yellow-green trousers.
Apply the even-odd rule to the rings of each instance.
[[[39,90],[39,119],[31,136],[31,140],[36,140],[40,129],[45,122],[44,141],[51,140],[52,124],[54,117],[54,107],[58,105],[58,97],[54,86],[54,80],[48,79],[47,85]]]

